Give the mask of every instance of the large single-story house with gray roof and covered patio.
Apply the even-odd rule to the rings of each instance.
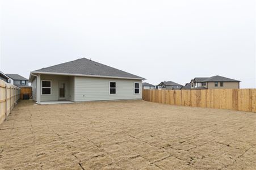
[[[31,71],[33,100],[95,101],[142,99],[140,76],[80,58]]]

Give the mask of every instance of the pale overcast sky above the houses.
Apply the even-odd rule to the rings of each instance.
[[[86,57],[153,84],[222,75],[256,87],[255,0],[0,5],[4,73],[28,78],[32,70]]]

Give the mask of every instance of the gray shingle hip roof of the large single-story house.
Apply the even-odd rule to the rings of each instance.
[[[79,75],[95,75],[95,76],[114,76],[119,78],[135,78],[144,79],[140,76],[127,73],[115,69],[110,66],[103,65],[92,61],[87,58],[80,58],[74,61],[61,63],[51,67],[32,71],[36,72],[47,72],[47,73],[62,73],[62,74],[79,74]]]

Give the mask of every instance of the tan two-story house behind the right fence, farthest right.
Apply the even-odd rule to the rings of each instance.
[[[240,88],[240,80],[219,75],[209,78],[194,78],[190,84],[191,89]]]

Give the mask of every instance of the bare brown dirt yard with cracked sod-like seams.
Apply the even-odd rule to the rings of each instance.
[[[256,113],[146,101],[34,105],[0,125],[0,169],[255,169]]]

